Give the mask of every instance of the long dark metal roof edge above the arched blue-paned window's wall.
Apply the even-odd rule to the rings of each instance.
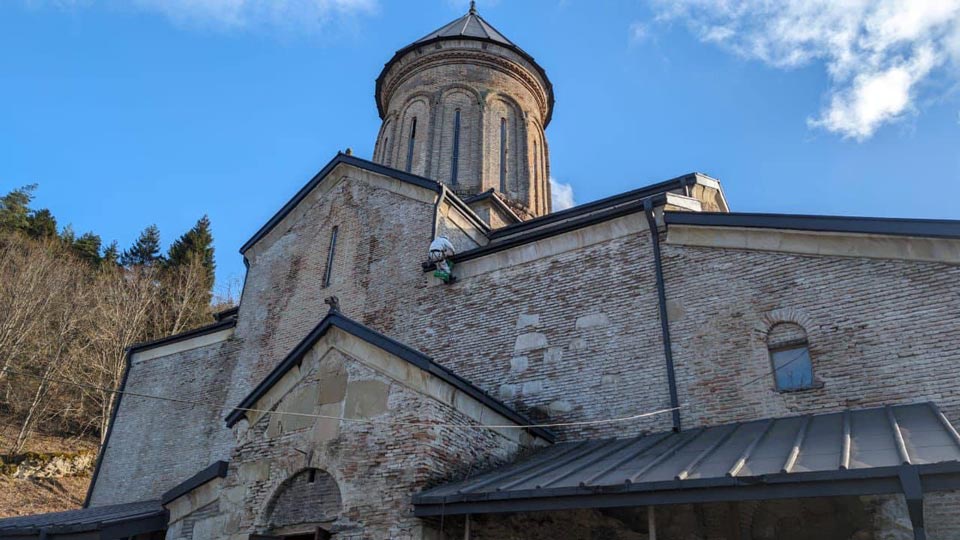
[[[745,227],[800,231],[960,238],[960,220],[902,219],[792,214],[666,212],[667,225]]]

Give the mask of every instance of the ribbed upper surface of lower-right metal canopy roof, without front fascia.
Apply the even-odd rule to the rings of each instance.
[[[862,479],[870,476],[863,474],[867,470],[948,462],[960,462],[960,435],[936,405],[922,403],[561,443],[470,480],[427,490],[414,504],[730,488],[768,476],[778,483]],[[456,513],[450,506],[446,510]]]

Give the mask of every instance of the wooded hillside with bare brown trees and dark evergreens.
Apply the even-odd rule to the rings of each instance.
[[[121,251],[32,208],[35,188],[0,198],[0,454],[8,455],[36,449],[38,435],[99,441],[125,349],[212,322],[231,302],[212,297],[206,216],[166,253],[154,225]]]

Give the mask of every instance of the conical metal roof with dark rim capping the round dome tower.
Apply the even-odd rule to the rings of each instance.
[[[524,51],[518,47],[517,44],[507,39],[507,37],[500,33],[499,30],[494,28],[493,25],[481,17],[473,6],[470,7],[470,11],[467,12],[467,14],[463,17],[459,17],[453,21],[450,21],[433,32],[430,32],[422,38],[398,50],[393,57],[390,58],[386,64],[384,64],[383,70],[380,72],[380,76],[377,77],[377,87],[374,93],[374,99],[377,101],[377,112],[380,114],[380,118],[383,118],[386,115],[386,110],[384,110],[383,104],[380,102],[380,90],[383,88],[383,78],[386,76],[387,72],[390,71],[390,68],[393,66],[393,64],[410,51],[436,43],[438,41],[450,39],[470,39],[483,41],[486,43],[495,43],[512,50],[513,52],[519,54],[524,60],[530,62],[534,69],[537,70],[540,78],[543,79],[544,84],[546,84],[546,88],[544,90],[547,92],[547,117],[543,122],[543,127],[546,128],[548,125],[550,125],[550,120],[553,117],[554,98],[553,84],[547,77],[547,72],[540,66],[540,64],[537,63],[536,60],[534,60],[530,53]]]

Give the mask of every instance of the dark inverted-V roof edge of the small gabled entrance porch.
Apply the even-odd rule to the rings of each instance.
[[[427,373],[437,377],[438,379],[443,380],[447,384],[450,384],[457,390],[467,394],[473,399],[479,401],[484,406],[490,408],[491,410],[497,412],[504,418],[507,418],[511,422],[516,423],[517,425],[530,426],[527,428],[527,431],[537,437],[540,437],[546,441],[553,442],[554,435],[548,430],[545,430],[540,427],[535,427],[533,421],[527,418],[525,415],[518,413],[517,411],[511,409],[505,405],[500,400],[494,398],[484,390],[474,386],[473,383],[464,379],[463,377],[455,374],[449,369],[437,364],[430,357],[424,355],[420,351],[417,351],[411,347],[400,343],[394,339],[391,339],[376,330],[373,330],[363,324],[354,321],[348,317],[345,317],[337,310],[330,310],[326,317],[320,321],[313,330],[303,340],[297,344],[296,347],[290,354],[287,355],[280,364],[277,365],[270,372],[269,375],[256,388],[250,392],[247,397],[240,402],[240,404],[230,412],[226,417],[226,422],[228,427],[232,427],[234,424],[239,422],[242,418],[246,416],[245,409],[251,409],[254,407],[256,402],[273,387],[288,371],[290,371],[294,366],[300,365],[303,361],[303,357],[310,351],[311,348],[322,338],[331,328],[339,328],[348,334],[351,334],[375,347],[378,347],[414,366],[426,371]]]

